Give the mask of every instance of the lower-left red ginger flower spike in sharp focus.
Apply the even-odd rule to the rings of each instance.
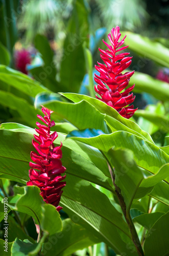
[[[30,181],[27,182],[27,185],[38,186],[43,200],[54,205],[60,211],[63,208],[59,206],[63,193],[61,189],[66,185],[66,182],[62,181],[66,175],[61,175],[66,170],[61,161],[62,142],[60,146],[55,147],[53,141],[58,137],[58,134],[57,132],[50,134],[50,127],[55,125],[54,121],[50,120],[50,115],[53,111],[43,107],[42,112],[45,114],[44,118],[40,115],[37,116],[46,125],[42,125],[39,122],[36,123],[39,129],[35,130],[39,136],[34,135],[37,141],[33,139],[32,143],[38,153],[31,152],[31,159],[35,163],[30,162],[32,169],[29,170]]]

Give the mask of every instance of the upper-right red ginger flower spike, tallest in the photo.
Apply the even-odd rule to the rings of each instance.
[[[99,66],[95,65],[96,70],[100,73],[100,76],[95,74],[94,77],[95,82],[98,83],[97,87],[95,85],[95,92],[101,96],[101,98],[99,98],[96,95],[98,99],[105,102],[107,105],[112,106],[112,108],[117,110],[121,116],[130,118],[136,111],[133,105],[127,106],[135,99],[135,96],[133,97],[133,93],[129,94],[133,90],[134,85],[124,92],[122,91],[128,86],[130,77],[134,74],[134,71],[122,74],[122,72],[130,66],[132,57],[126,57],[130,54],[127,52],[117,54],[117,52],[128,47],[121,47],[124,44],[126,36],[119,42],[119,38],[121,36],[119,31],[120,28],[117,26],[116,28],[111,29],[111,33],[108,34],[108,39],[112,46],[108,45],[103,40],[108,49],[104,51],[99,48],[99,51],[101,52],[100,57],[106,66],[99,62]],[[119,47],[121,48],[118,49]],[[106,86],[109,89],[107,89]]]

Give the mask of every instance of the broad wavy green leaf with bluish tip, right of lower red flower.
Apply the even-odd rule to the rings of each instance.
[[[128,132],[100,134],[100,131],[95,130],[93,135],[94,130],[89,129],[88,133],[85,131],[73,131],[67,138],[87,143],[105,152],[111,147],[128,148],[133,152],[137,165],[152,173],[158,172],[163,164],[168,163],[168,155],[158,146]]]

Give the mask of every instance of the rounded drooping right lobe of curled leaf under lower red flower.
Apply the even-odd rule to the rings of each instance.
[[[59,212],[53,205],[44,204],[42,207],[42,229],[49,234],[62,231],[62,220]]]

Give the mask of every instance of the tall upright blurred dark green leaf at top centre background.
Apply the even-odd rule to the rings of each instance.
[[[89,42],[88,3],[83,0],[72,2],[72,13],[67,26],[64,41],[63,58],[61,61],[62,92],[78,92],[86,73],[83,42]],[[80,56],[80,57],[79,57]]]

